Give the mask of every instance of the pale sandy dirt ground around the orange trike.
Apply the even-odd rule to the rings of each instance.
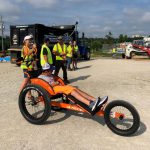
[[[72,111],[53,112],[46,124],[32,125],[18,108],[22,70],[0,63],[0,150],[149,150],[150,60],[92,59],[78,67],[68,72],[71,84],[95,97],[133,104],[141,117],[139,131],[118,136],[103,118]]]

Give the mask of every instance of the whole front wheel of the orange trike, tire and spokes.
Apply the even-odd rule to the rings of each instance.
[[[108,128],[121,136],[134,134],[140,126],[140,116],[137,110],[123,100],[110,102],[105,108],[104,119]]]

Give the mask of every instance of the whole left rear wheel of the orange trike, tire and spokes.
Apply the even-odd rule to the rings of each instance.
[[[29,99],[28,95],[32,98]],[[32,124],[44,123],[51,113],[48,92],[39,85],[27,85],[19,95],[19,109],[23,117]]]

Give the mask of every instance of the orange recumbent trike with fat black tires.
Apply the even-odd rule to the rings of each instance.
[[[65,85],[60,77],[55,77]],[[32,99],[28,98],[31,93]],[[57,99],[61,99],[58,101]],[[91,112],[89,107],[71,95],[55,94],[46,81],[33,78],[19,95],[19,109],[23,117],[32,124],[43,124],[50,116],[52,107],[69,109],[104,117],[108,128],[121,136],[134,134],[140,127],[140,117],[136,108],[123,100],[106,102],[101,108]]]

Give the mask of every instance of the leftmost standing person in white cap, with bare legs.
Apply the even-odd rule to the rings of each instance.
[[[30,35],[27,35],[24,37],[24,40],[23,40],[23,48],[21,52],[23,61],[21,62],[21,68],[23,69],[24,80],[21,84],[20,92],[28,83],[30,83],[29,76],[33,74],[32,62],[33,62],[33,54],[35,53],[35,49],[31,49],[32,44],[33,44],[31,39],[32,37]]]

